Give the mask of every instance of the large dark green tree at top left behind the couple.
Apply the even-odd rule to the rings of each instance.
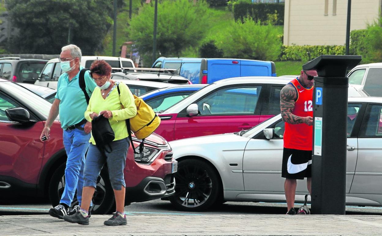
[[[112,26],[112,0],[7,0],[19,34],[12,40],[13,53],[58,54],[76,44],[84,55],[94,55]]]

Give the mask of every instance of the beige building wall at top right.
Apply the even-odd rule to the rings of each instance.
[[[353,0],[350,31],[379,17],[382,0]],[[344,45],[348,0],[285,0],[284,45]]]

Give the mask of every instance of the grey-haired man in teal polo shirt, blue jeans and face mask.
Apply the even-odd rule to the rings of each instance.
[[[63,144],[68,156],[65,168],[65,189],[60,204],[51,208],[49,215],[63,219],[64,215],[73,215],[79,210],[79,206],[75,206],[69,212],[76,190],[77,200],[81,204],[85,153],[89,147],[91,132],[91,122],[84,118],[87,107],[85,92],[90,97],[97,85],[89,75],[89,71],[86,71],[84,73],[85,91],[80,88],[79,75],[82,67],[79,47],[70,44],[62,47],[61,50],[59,60],[62,71],[65,73],[58,78],[55,100],[40,139],[42,141],[49,139],[50,127],[59,114],[63,129]]]

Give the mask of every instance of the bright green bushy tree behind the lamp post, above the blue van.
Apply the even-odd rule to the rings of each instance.
[[[144,5],[130,21],[130,39],[142,54],[152,52],[154,1]],[[164,0],[158,3],[157,51],[162,56],[179,56],[188,47],[199,46],[204,37],[206,12],[204,1]]]

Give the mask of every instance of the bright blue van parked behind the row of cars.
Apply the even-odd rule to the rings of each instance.
[[[152,68],[176,69],[194,84],[240,76],[276,76],[274,62],[246,59],[159,57]]]

